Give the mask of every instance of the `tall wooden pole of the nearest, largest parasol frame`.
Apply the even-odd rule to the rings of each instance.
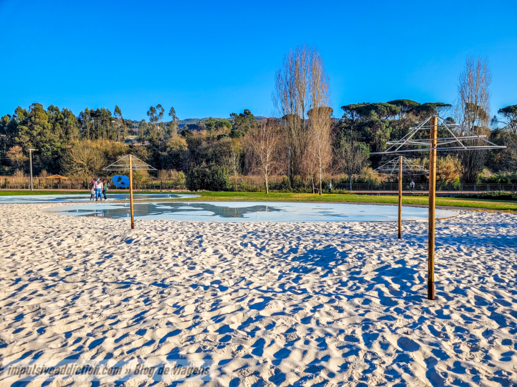
[[[437,118],[431,117],[431,150],[429,151],[429,239],[428,239],[428,271],[427,298],[434,300],[434,228],[436,205],[436,138]]]

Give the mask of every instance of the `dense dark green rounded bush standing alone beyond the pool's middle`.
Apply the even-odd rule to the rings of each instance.
[[[197,166],[188,171],[185,184],[189,191],[229,191],[230,173],[227,168],[218,165]]]

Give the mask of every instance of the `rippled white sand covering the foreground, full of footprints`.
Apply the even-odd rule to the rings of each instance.
[[[0,205],[4,364],[210,358],[210,383],[232,386],[517,384],[516,215],[437,222],[429,301],[424,222],[402,240],[396,223],[132,231],[49,206]]]

